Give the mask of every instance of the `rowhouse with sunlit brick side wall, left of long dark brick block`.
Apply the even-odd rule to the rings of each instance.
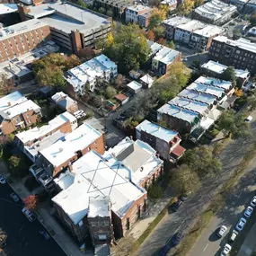
[[[205,51],[210,48],[212,40],[219,35],[223,35],[225,30],[222,27],[207,25],[202,29],[192,32],[190,37],[190,47]]]

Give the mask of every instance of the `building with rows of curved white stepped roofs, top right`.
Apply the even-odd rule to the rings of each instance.
[[[192,18],[201,22],[222,25],[230,21],[234,13],[237,13],[236,6],[219,0],[211,0],[193,10]]]

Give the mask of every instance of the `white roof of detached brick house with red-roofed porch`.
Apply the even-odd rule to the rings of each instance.
[[[144,120],[142,123],[140,123],[137,128],[137,130],[143,130],[148,134],[153,135],[154,137],[158,137],[165,142],[169,143],[173,137],[178,135],[178,132],[173,131],[171,129],[163,128],[157,124],[154,124],[148,120]]]

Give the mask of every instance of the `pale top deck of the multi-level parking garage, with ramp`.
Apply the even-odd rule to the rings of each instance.
[[[29,17],[40,18],[41,21],[49,24],[50,27],[67,34],[71,31],[80,31],[85,35],[92,30],[100,29],[101,26],[110,24],[107,16],[94,13],[89,9],[75,7],[72,4],[56,3],[39,4],[30,6]]]

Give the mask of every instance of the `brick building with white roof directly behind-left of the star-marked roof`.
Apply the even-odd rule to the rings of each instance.
[[[103,154],[104,138],[101,132],[84,123],[56,143],[40,150],[30,172],[46,190],[53,190],[52,178],[90,150]]]

